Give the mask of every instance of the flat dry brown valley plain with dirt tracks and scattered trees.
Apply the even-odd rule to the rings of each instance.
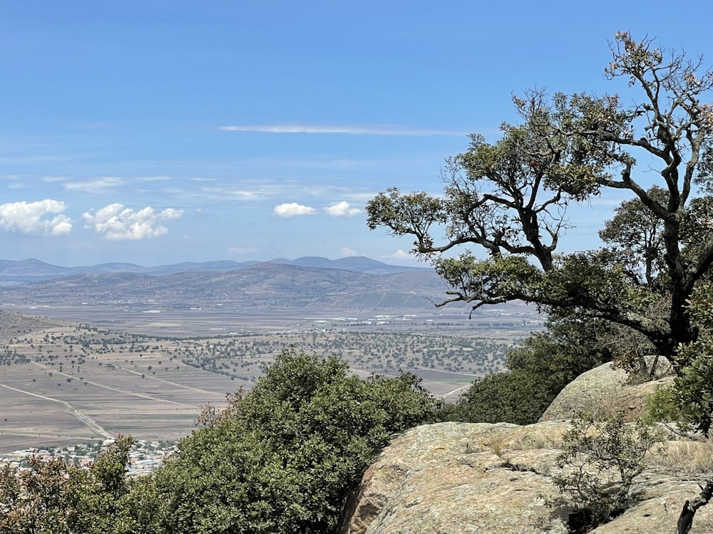
[[[250,388],[282,350],[337,355],[361,376],[414,372],[457,399],[498,370],[531,317],[292,316],[97,307],[0,312],[0,453],[116,434],[179,439],[207,404]],[[43,318],[38,318],[43,315]],[[486,318],[487,319],[487,318]]]

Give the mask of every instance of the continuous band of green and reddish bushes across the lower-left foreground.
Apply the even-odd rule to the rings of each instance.
[[[9,534],[319,533],[394,433],[439,417],[419,378],[351,375],[347,362],[283,352],[252,391],[205,409],[153,476],[128,481],[130,439],[89,470],[61,460],[0,471]]]

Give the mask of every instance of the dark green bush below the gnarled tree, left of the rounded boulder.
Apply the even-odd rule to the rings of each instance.
[[[537,422],[557,394],[583,372],[612,359],[610,325],[553,318],[548,331],[508,353],[506,372],[473,382],[449,419],[464,422]]]

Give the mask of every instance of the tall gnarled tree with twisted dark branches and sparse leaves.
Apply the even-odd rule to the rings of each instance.
[[[441,305],[519,299],[607,320],[681,375],[679,346],[699,335],[687,303],[713,263],[713,107],[702,102],[713,73],[624,32],[610,48],[607,77],[640,90],[631,108],[619,95],[514,98],[521,124],[504,124],[493,144],[471,135],[447,161],[442,196],[389,189],[369,201],[368,225],[414,236],[413,252],[450,286]],[[657,183],[646,187],[652,168]],[[555,253],[568,206],[611,189],[633,199],[602,231],[609,246]],[[453,256],[463,246],[485,257]]]

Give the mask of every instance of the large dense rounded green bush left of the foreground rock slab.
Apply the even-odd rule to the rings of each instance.
[[[336,357],[286,351],[126,502],[139,532],[332,533],[390,436],[439,407],[413,375],[361,379]]]

